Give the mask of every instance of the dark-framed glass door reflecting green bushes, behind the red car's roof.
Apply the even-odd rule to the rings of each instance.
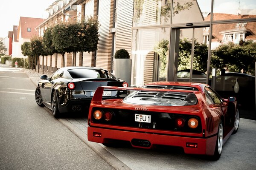
[[[207,83],[209,27],[176,28],[175,35],[174,81]]]

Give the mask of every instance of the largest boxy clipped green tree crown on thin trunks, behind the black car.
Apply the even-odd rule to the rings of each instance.
[[[52,44],[62,54],[61,67],[64,67],[64,54],[73,53],[75,65],[76,52],[90,52],[97,49],[99,42],[99,23],[93,17],[80,23],[59,23],[52,28]]]

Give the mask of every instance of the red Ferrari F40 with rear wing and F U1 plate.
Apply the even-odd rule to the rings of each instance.
[[[102,100],[104,88],[131,91],[124,99]],[[219,159],[239,127],[235,97],[221,98],[209,85],[153,82],[142,88],[98,87],[90,104],[88,140],[133,147],[182,147],[184,153]]]

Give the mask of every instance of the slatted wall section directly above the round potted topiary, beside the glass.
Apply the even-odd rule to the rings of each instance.
[[[117,3],[116,51],[124,48],[129,52],[130,56],[133,6],[133,0],[118,0]]]

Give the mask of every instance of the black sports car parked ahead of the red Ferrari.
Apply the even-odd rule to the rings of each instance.
[[[109,71],[96,67],[64,67],[51,77],[41,76],[35,90],[35,101],[39,106],[52,110],[55,118],[60,113],[86,111],[93,94],[99,86],[128,87],[128,83],[117,79]],[[104,99],[124,98],[127,91],[104,91]]]

